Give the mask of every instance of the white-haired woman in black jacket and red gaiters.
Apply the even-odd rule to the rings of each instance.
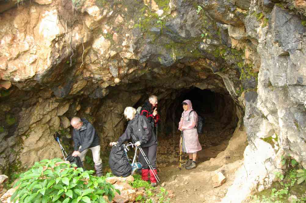
[[[157,174],[156,170],[156,146],[157,146],[157,139],[155,133],[152,132],[152,126],[148,119],[143,116],[139,115],[135,108],[133,107],[126,107],[124,110],[124,116],[127,120],[129,120],[128,126],[126,127],[125,132],[119,137],[117,142],[111,142],[110,146],[113,145],[121,145],[126,140],[129,140],[134,134],[134,137],[137,140],[134,140],[136,146],[141,146],[146,154],[147,158],[149,159],[155,173]],[[140,163],[142,164],[141,176],[144,181],[149,180],[149,173],[150,173],[150,181],[153,187],[156,186],[156,179],[153,175],[153,172],[149,170],[149,166],[145,161],[144,157],[140,153]]]

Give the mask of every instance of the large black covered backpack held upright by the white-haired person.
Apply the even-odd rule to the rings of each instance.
[[[117,177],[127,177],[132,171],[132,166],[129,164],[123,147],[123,145],[113,146],[108,160],[112,173]]]

